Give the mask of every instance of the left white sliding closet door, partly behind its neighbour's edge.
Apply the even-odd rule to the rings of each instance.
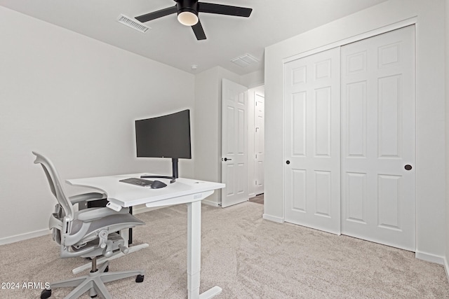
[[[284,65],[285,220],[340,234],[340,48]]]

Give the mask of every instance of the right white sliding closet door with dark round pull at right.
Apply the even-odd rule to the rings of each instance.
[[[414,26],[341,50],[342,234],[410,251],[416,216],[414,50]]]

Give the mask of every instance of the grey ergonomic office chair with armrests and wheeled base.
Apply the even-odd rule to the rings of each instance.
[[[144,222],[129,214],[129,209],[114,211],[108,207],[82,209],[74,211],[75,203],[98,200],[104,197],[102,193],[86,193],[68,198],[60,184],[58,172],[50,160],[39,153],[36,155],[35,164],[41,164],[46,174],[50,189],[55,195],[58,204],[55,212],[51,214],[48,226],[53,230],[53,239],[60,245],[60,257],[71,258],[81,256],[91,258],[92,270],[83,277],[65,279],[50,284],[41,293],[41,299],[51,296],[53,288],[74,287],[65,298],[79,298],[89,291],[91,297],[98,294],[109,299],[111,295],[107,291],[105,282],[136,276],[136,282],[142,282],[145,277],[144,270],[108,272],[109,262],[105,262],[100,269],[97,268],[98,256],[110,257],[114,251],[121,250],[128,253],[125,241],[116,231],[143,225]]]

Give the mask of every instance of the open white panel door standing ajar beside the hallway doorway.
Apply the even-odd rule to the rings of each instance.
[[[222,207],[248,200],[248,89],[222,80]]]

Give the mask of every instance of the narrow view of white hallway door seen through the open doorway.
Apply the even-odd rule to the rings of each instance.
[[[264,95],[255,93],[254,99],[255,195],[264,193]]]

